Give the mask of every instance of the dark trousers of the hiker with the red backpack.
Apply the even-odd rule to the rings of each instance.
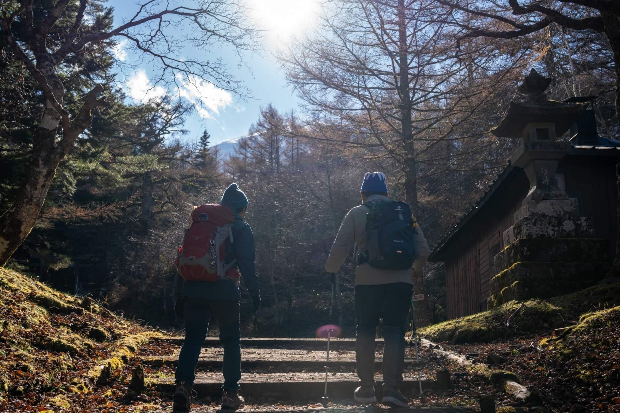
[[[205,343],[210,321],[215,318],[219,326],[219,341],[224,346],[224,385],[225,390],[239,389],[241,380],[241,329],[239,328],[238,301],[208,301],[185,303],[185,341],[179,354],[179,365],[175,381],[185,381],[193,385],[194,370],[198,356]]]

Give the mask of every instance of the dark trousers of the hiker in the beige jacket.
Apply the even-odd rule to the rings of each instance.
[[[405,328],[413,285],[395,282],[355,286],[357,375],[363,387],[374,385],[374,338],[379,318],[383,318],[383,382],[398,388],[405,361]]]

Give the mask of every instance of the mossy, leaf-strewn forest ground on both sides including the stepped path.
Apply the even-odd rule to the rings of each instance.
[[[56,292],[14,271],[2,269],[0,276],[2,411],[171,411],[170,384],[164,383],[174,382],[179,343],[166,337],[178,331],[144,328],[95,302]],[[618,283],[604,284],[549,302],[531,300],[523,306],[511,302],[497,311],[422,329],[425,339],[418,351],[423,398],[417,391],[415,348],[408,336],[404,378],[410,384],[404,393],[410,398],[410,407],[470,407],[477,411],[480,398],[490,397],[499,412],[620,411],[618,289]],[[505,326],[513,313],[511,326]],[[558,326],[570,328],[554,332]],[[487,329],[496,338],[489,339]],[[454,330],[462,333],[437,340],[440,334]],[[322,385],[324,373],[316,366],[324,362],[324,344],[314,342],[311,349],[286,343],[273,348],[243,345],[244,379],[252,383],[268,377],[277,385],[278,376],[284,381],[312,376],[315,384]],[[381,352],[380,344],[377,359]],[[198,381],[219,383],[221,365],[217,360],[222,354],[218,346],[203,349],[201,360],[207,363],[199,364]],[[172,364],[157,362],[166,358]],[[352,347],[335,347],[331,360],[331,381],[355,376]],[[449,388],[438,385],[438,372],[445,369],[449,371]],[[143,382],[132,377],[136,371],[143,371]],[[505,391],[501,383],[507,378],[525,386],[535,397],[520,400]],[[197,388],[194,411],[218,411],[221,393]],[[260,396],[251,389],[249,393],[242,411],[324,408],[320,398],[311,394]],[[350,397],[340,395],[332,397],[327,406],[358,407]]]

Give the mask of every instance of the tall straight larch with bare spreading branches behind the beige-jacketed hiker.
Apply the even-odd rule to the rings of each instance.
[[[501,84],[479,70],[497,51],[472,43],[468,58],[457,59],[454,28],[438,21],[442,15],[449,12],[433,0],[328,2],[316,33],[280,53],[288,81],[314,116],[312,137],[340,136],[334,143],[396,162],[396,181],[415,215],[421,157],[459,139],[459,125],[479,116]],[[422,274],[415,281],[415,293],[423,293]],[[427,325],[424,302],[416,302],[416,313],[418,325]]]

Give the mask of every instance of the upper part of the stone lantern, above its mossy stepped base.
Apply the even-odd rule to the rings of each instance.
[[[570,142],[557,138],[569,131],[590,103],[547,100],[544,91],[551,78],[532,69],[519,92],[524,102],[510,102],[502,122],[492,133],[498,137],[523,138],[511,163],[525,170],[529,192],[515,212],[515,225],[503,234],[504,245],[519,238],[593,237],[590,219],[579,217],[577,199],[565,191],[564,176],[557,174],[560,160],[570,152]]]

